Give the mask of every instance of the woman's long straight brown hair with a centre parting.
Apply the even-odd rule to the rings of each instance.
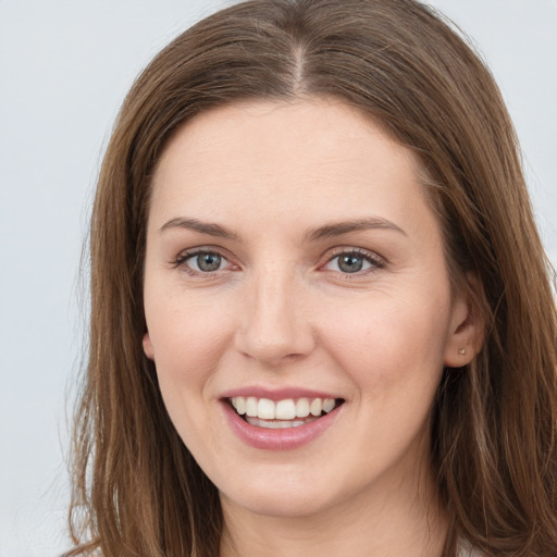
[[[251,0],[198,23],[138,77],[102,164],[67,555],[214,557],[218,492],[182,443],[141,349],[150,178],[171,134],[245,99],[335,97],[423,165],[455,284],[478,285],[480,355],[445,370],[432,466],[444,556],[557,554],[556,308],[517,138],[491,74],[414,0]]]

